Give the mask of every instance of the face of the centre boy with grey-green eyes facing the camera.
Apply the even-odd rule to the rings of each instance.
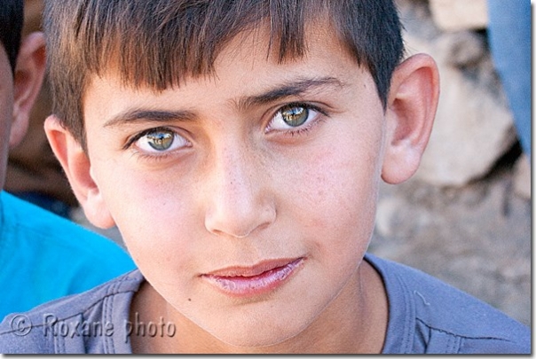
[[[118,226],[176,319],[233,345],[280,342],[327,312],[355,316],[385,148],[414,144],[413,124],[393,137],[371,75],[326,28],[310,28],[305,57],[283,64],[266,59],[267,36],[239,36],[214,75],[160,93],[114,72],[93,78],[89,160],[48,121],[91,222]],[[423,98],[412,86],[405,98]]]

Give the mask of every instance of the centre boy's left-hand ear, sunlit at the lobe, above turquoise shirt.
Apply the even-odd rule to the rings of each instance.
[[[82,145],[54,115],[44,121],[44,132],[88,220],[101,229],[113,227],[114,218],[93,179],[91,161]]]

